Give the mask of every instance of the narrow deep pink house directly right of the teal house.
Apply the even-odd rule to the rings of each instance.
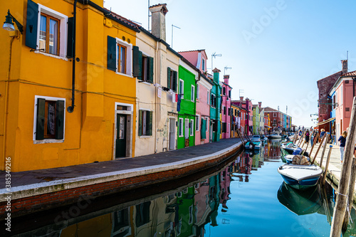
[[[229,75],[224,75],[222,83],[222,108],[221,108],[221,138],[229,138],[231,132],[231,86],[229,85]]]

